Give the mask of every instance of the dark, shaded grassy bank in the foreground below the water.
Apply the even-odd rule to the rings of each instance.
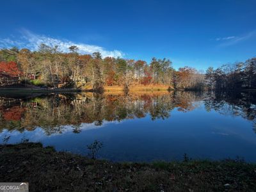
[[[256,191],[256,164],[241,161],[111,163],[40,143],[0,145],[1,182],[30,191]]]

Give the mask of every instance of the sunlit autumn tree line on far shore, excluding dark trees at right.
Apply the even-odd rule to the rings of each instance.
[[[202,86],[202,74],[195,68],[175,70],[166,58],[143,60],[102,58],[100,52],[79,54],[76,46],[70,52],[60,52],[58,46],[41,44],[37,51],[29,49],[1,49],[0,83],[34,84],[63,88],[67,86],[90,87],[99,90],[104,86],[145,86],[164,84],[170,88],[195,88]],[[13,67],[13,65],[16,66]],[[7,69],[7,70],[6,70]],[[12,73],[10,73],[12,71]],[[13,75],[13,72],[15,75]],[[6,81],[6,80],[12,81]]]

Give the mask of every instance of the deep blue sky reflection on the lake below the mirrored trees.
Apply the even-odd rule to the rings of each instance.
[[[104,129],[102,129],[104,128]],[[93,140],[104,143],[99,157],[113,161],[154,161],[156,159],[182,159],[186,152],[193,158],[223,159],[244,157],[256,161],[256,134],[252,122],[241,116],[222,115],[214,110],[205,111],[197,102],[193,111],[183,113],[175,108],[170,117],[152,121],[150,115],[120,122],[103,122],[102,125],[81,124],[81,132],[63,126],[61,134],[46,136],[39,127],[23,133],[3,131],[11,135],[10,143],[22,137],[40,141],[56,150],[67,150],[86,155],[86,145]]]

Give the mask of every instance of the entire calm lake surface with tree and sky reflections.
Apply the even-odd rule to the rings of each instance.
[[[156,92],[0,97],[0,139],[40,141],[113,161],[256,161],[256,93]]]

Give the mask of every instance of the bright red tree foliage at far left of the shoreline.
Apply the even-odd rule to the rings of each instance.
[[[17,63],[10,61],[10,62],[0,62],[0,74],[4,74],[10,77],[19,77],[22,72],[19,70]]]

